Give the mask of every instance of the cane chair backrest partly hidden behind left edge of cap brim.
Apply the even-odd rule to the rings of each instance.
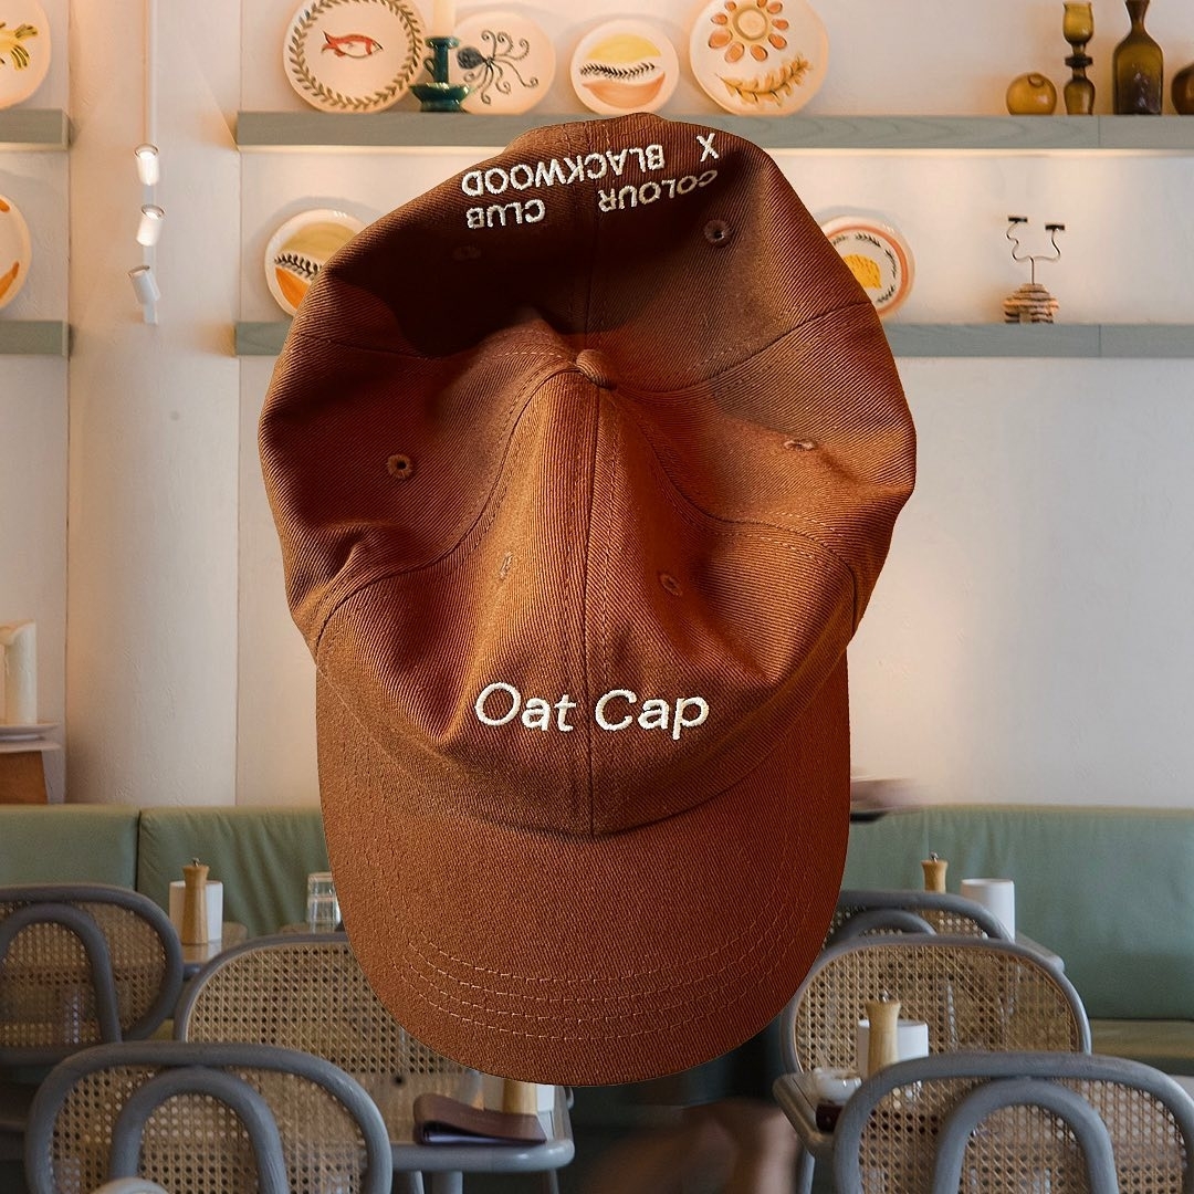
[[[298,1048],[356,1076],[441,1073],[445,1091],[464,1072],[386,1010],[343,933],[279,934],[220,954],[189,984],[174,1035]]]

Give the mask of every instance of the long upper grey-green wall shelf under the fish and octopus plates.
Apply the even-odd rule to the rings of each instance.
[[[242,150],[431,149],[506,146],[543,124],[589,113],[470,116],[456,112],[239,112]],[[700,113],[688,119],[764,149],[851,153],[1054,150],[1194,153],[1194,118],[1182,116],[789,116]]]

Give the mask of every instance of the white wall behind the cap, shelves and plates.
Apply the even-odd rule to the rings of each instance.
[[[14,419],[0,386],[5,438],[13,426],[26,472],[38,451],[44,461],[36,527],[14,527],[7,513],[0,524],[0,546],[17,544],[4,559],[37,560],[19,583],[0,573],[0,616],[32,614],[61,629],[68,604],[72,800],[316,799],[312,664],[287,615],[256,455],[271,362],[230,357],[230,326],[277,318],[261,256],[287,216],[330,201],[380,215],[482,150],[238,154],[228,131],[238,107],[304,110],[281,62],[294,7],[216,0],[202,20],[191,6],[161,7],[165,298],[161,326],[144,328],[124,277],[140,202],[129,156],[140,140],[140,62],[128,53],[140,2],[74,5],[68,473],[60,364],[18,364],[23,388],[53,400],[26,402]],[[596,19],[627,7],[513,7],[540,19],[561,54],[540,112],[580,111],[567,55]],[[651,10],[682,61],[702,7],[667,0]],[[811,113],[997,113],[1013,75],[1044,69],[1058,86],[1066,76],[1054,0],[817,7],[831,64]],[[1127,20],[1119,0],[1095,0],[1095,20],[1091,74],[1107,111],[1110,49]],[[1149,26],[1170,70],[1194,59],[1188,6],[1155,5]],[[61,75],[51,84],[64,86]],[[685,75],[665,115],[712,110]],[[478,130],[484,146],[481,117]],[[24,156],[0,156],[0,193]],[[1041,272],[1060,319],[1194,322],[1194,158],[780,158],[818,214],[881,211],[904,232],[917,277],[896,319],[998,319],[1024,278],[1003,239],[1017,211],[1038,229],[1067,226],[1061,261]],[[64,168],[37,165],[59,199],[64,184],[53,171]],[[900,369],[921,438],[919,485],[851,647],[857,769],[907,777],[925,799],[1194,804],[1194,736],[1183,725],[1194,704],[1194,478],[1184,463],[1194,362]],[[16,450],[2,450],[7,463]],[[6,469],[6,510],[25,493]],[[57,558],[41,547],[55,536]],[[21,602],[37,609],[6,613]],[[49,702],[63,667],[54,638],[43,635]],[[54,720],[57,683],[59,703],[44,707]]]

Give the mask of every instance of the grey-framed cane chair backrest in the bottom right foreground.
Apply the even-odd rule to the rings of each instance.
[[[1194,1194],[1194,1100],[1138,1061],[953,1053],[886,1066],[833,1130],[839,1194]]]

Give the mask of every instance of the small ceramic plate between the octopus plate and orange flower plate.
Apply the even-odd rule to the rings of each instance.
[[[676,48],[650,21],[610,20],[586,33],[572,55],[572,87],[603,116],[654,112],[679,82]]]

